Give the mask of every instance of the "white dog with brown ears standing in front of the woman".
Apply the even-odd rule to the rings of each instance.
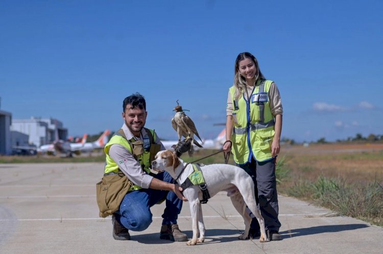
[[[152,161],[152,169],[156,171],[167,171],[178,184],[181,185],[187,177],[194,172],[193,165],[184,163],[170,150],[159,151]],[[245,240],[249,234],[251,217],[245,212],[246,205],[257,218],[260,225],[260,242],[266,242],[265,221],[260,215],[256,206],[254,196],[254,183],[250,175],[240,167],[228,164],[212,164],[201,167],[201,171],[207,186],[210,197],[220,191],[226,191],[230,196],[235,209],[245,220],[245,232],[238,239]],[[198,185],[193,185],[183,191],[183,195],[188,199],[190,213],[193,221],[193,238],[187,245],[196,245],[205,240],[205,226],[202,217],[202,191]],[[197,227],[198,224],[198,227]],[[198,233],[200,238],[198,238]],[[197,239],[198,238],[198,239]]]

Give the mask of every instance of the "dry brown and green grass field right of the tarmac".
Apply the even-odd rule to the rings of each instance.
[[[383,225],[383,146],[286,147],[288,179],[279,192]]]

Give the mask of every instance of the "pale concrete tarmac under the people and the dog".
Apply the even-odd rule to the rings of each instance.
[[[223,192],[202,205],[202,244],[159,239],[164,204],[147,230],[116,241],[95,200],[102,174],[103,163],[0,164],[0,253],[383,253],[382,227],[281,195],[282,240],[238,240],[244,222]],[[178,224],[191,238],[187,202]]]

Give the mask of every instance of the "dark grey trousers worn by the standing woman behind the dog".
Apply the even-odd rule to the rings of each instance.
[[[255,199],[260,208],[260,213],[265,219],[266,230],[279,231],[281,226],[278,220],[278,194],[275,177],[275,162],[272,159],[265,162],[257,162],[253,158],[251,162],[238,165],[244,169],[253,179]],[[251,221],[251,228],[259,228],[257,219]]]

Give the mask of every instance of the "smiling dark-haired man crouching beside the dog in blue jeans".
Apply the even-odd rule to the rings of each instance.
[[[146,230],[152,222],[150,207],[166,200],[162,214],[160,239],[171,241],[187,241],[177,225],[181,212],[182,189],[173,184],[172,176],[167,173],[152,174],[151,161],[157,151],[165,147],[154,130],[144,128],[148,112],[145,98],[139,93],[124,99],[122,129],[117,131],[105,145],[106,163],[104,177],[110,174],[126,175],[129,189],[112,215],[113,238],[130,240],[128,230]],[[184,149],[182,148],[184,145]],[[188,150],[190,143],[183,142],[175,148],[178,153]],[[183,150],[180,152],[180,150]]]

